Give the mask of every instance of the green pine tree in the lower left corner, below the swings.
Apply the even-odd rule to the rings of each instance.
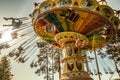
[[[7,56],[4,56],[0,60],[0,80],[11,80],[13,74],[11,74],[10,60]]]

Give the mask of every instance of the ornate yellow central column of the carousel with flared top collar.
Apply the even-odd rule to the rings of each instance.
[[[89,72],[84,70],[81,47],[88,43],[88,39],[76,32],[61,32],[55,40],[62,45],[62,73],[61,80],[93,80]]]

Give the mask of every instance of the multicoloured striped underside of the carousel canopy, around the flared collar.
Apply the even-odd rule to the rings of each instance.
[[[81,33],[88,37],[91,47],[93,36],[101,37],[97,40],[102,46],[113,34],[113,27],[97,13],[78,9],[60,9],[44,14],[35,23],[35,31],[40,38],[51,44],[58,45],[54,36],[59,32],[71,31]],[[97,43],[98,43],[97,42]],[[103,44],[101,44],[103,43]]]

